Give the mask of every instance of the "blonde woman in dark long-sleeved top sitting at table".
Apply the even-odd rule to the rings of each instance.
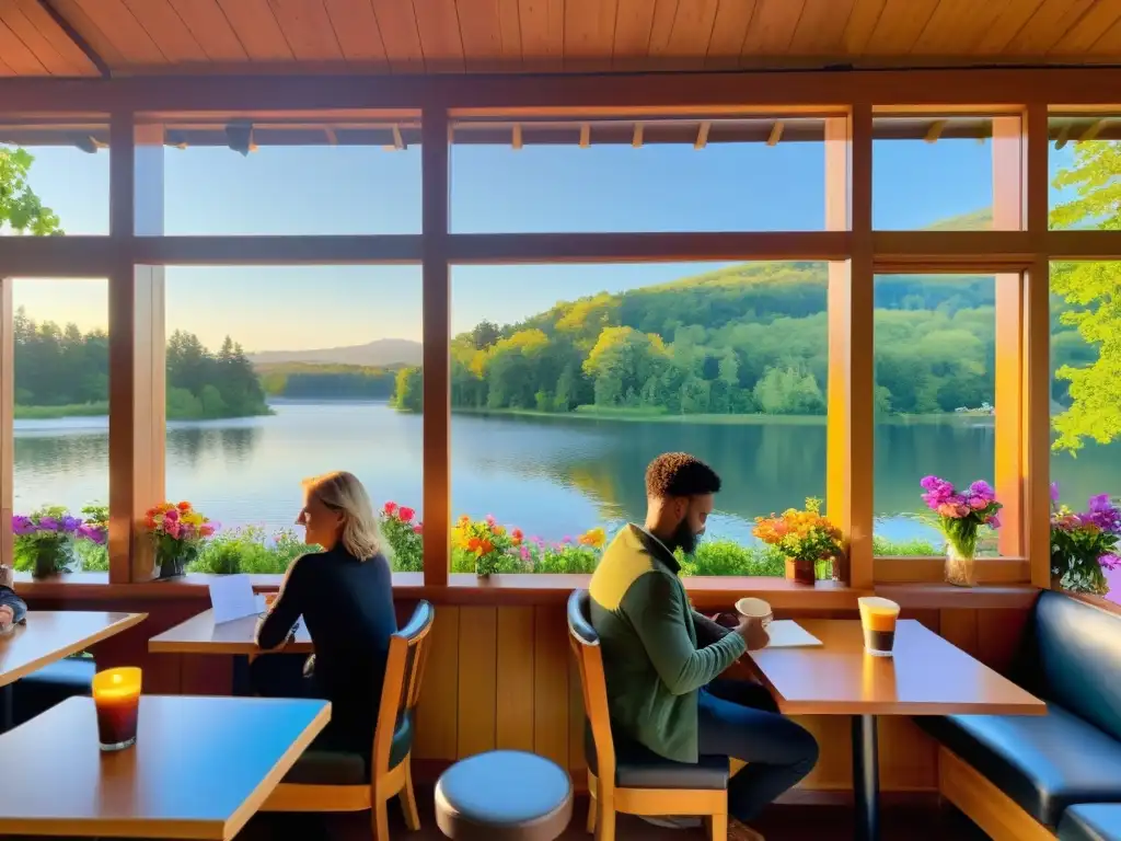
[[[331,724],[316,746],[369,761],[389,638],[397,630],[387,547],[370,497],[351,473],[305,480],[296,524],[305,528],[305,543],[323,551],[288,569],[258,626],[257,645],[282,646],[303,616],[315,655],[303,675],[298,663],[290,668],[290,656],[258,657],[251,681],[262,695],[331,701]]]

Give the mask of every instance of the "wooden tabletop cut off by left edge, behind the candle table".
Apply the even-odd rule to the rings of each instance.
[[[0,637],[0,686],[89,648],[143,621],[147,613],[30,610],[27,621]]]

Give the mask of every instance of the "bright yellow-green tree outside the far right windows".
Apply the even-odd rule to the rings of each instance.
[[[1073,165],[1059,170],[1055,186],[1073,191],[1074,197],[1051,211],[1053,228],[1121,230],[1121,142],[1078,144]],[[1072,307],[1062,323],[1097,350],[1093,362],[1057,371],[1069,383],[1071,405],[1055,417],[1055,447],[1077,451],[1085,438],[1108,443],[1121,435],[1121,266],[1057,264],[1051,292]]]

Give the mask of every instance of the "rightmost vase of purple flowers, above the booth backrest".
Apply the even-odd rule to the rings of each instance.
[[[1058,503],[1051,484],[1051,574],[1073,593],[1104,595],[1110,585],[1105,570],[1121,566],[1121,509],[1108,493],[1091,497],[1086,510],[1074,512]]]

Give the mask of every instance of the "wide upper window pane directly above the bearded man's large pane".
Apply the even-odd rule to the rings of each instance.
[[[458,122],[452,230],[819,231],[824,132],[821,119]]]

